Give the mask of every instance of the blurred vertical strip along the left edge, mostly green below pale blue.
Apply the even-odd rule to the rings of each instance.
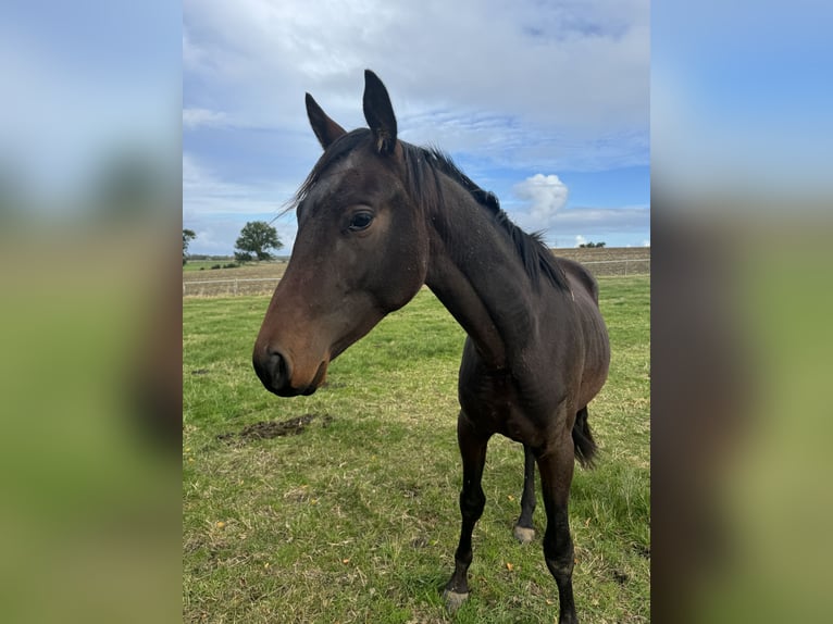
[[[176,3],[0,9],[4,622],[181,619],[181,58]]]

